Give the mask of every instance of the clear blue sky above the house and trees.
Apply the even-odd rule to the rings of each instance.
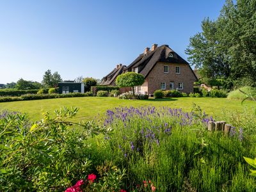
[[[102,78],[145,47],[167,44],[182,58],[205,17],[225,0],[0,1],[0,83]]]

